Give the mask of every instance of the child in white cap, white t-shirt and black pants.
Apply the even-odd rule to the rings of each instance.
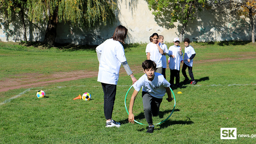
[[[176,86],[180,87],[180,62],[183,63],[180,44],[180,39],[175,37],[173,39],[174,45],[169,48],[169,68],[170,68],[170,84],[174,84],[174,77],[176,81]]]

